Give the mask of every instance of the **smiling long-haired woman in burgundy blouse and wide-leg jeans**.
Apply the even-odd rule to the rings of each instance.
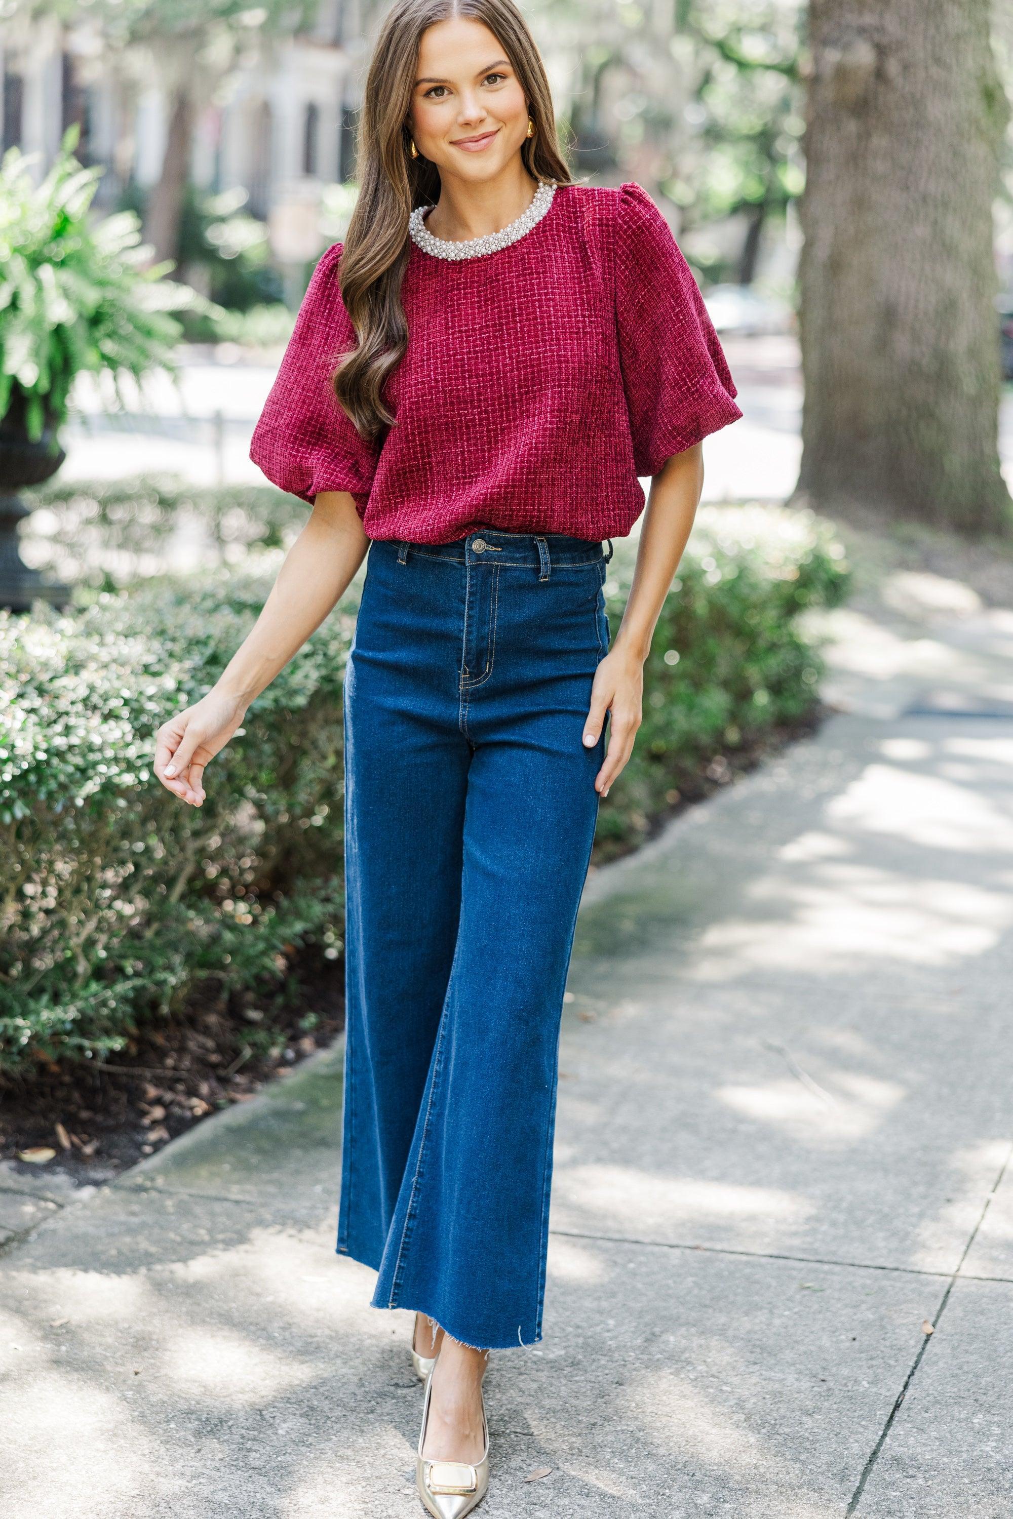
[[[345,676],[337,1250],[378,1271],[375,1306],[416,1311],[419,1493],[459,1519],[488,1483],[488,1352],[542,1334],[598,801],[641,722],[700,439],[741,413],[645,191],[571,182],[510,0],[395,3],[360,181],[252,442],[313,513],[222,679],[161,731],[156,773],[200,805],[205,766],[369,550]],[[629,533],[644,475],[609,649],[603,539]]]

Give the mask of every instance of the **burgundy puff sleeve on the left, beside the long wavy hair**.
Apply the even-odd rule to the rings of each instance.
[[[313,503],[317,491],[351,492],[361,516],[380,445],[360,437],[334,395],[337,363],[357,342],[337,283],[340,254],[336,243],[313,272],[249,456],[273,485],[304,501]]]

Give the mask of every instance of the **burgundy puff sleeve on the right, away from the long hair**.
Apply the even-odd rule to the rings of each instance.
[[[738,421],[735,384],[703,296],[664,216],[638,184],[620,185],[615,316],[638,475]]]

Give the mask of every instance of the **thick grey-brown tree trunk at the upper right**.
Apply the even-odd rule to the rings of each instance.
[[[1010,529],[989,0],[811,0],[797,495]]]

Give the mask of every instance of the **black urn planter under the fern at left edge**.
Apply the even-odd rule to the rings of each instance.
[[[49,419],[39,441],[32,442],[24,421],[24,396],[15,392],[0,421],[0,606],[12,612],[27,612],[32,602],[39,600],[64,606],[70,595],[65,585],[46,582],[38,570],[29,570],[18,553],[18,523],[32,512],[18,491],[49,480],[64,459],[56,428]]]

